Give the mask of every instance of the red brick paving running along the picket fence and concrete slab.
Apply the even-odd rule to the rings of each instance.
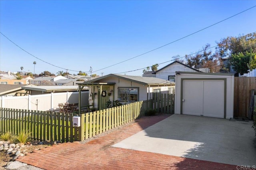
[[[190,158],[110,147],[113,144],[165,119],[170,115],[144,117],[136,123],[86,144],[63,143],[20,156],[17,160],[46,170],[52,169],[236,169]],[[147,142],[147,141],[145,141]]]

